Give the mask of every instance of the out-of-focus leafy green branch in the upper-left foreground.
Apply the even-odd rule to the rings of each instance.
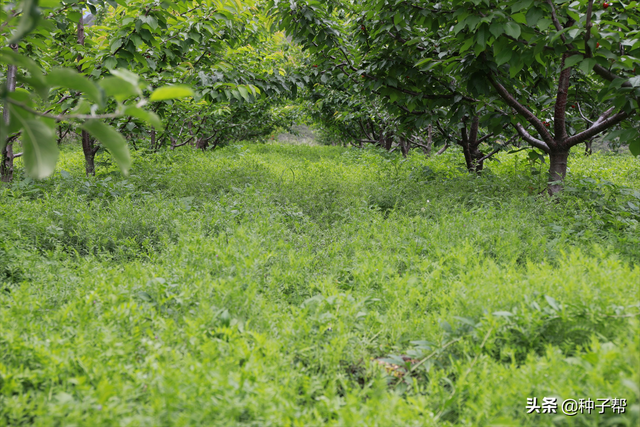
[[[69,4],[59,6],[55,2],[46,2],[43,10],[48,17],[52,17],[54,12],[63,11],[68,6]],[[131,116],[161,127],[157,116],[142,108],[147,101],[142,97],[144,85],[138,76],[127,70],[112,70],[112,76],[101,79],[98,85],[74,69],[50,67],[50,56],[46,54],[47,49],[42,49],[41,41],[48,40],[43,34],[51,28],[51,22],[46,18],[42,19],[38,1],[23,0],[7,10],[0,16],[0,19],[4,19],[0,37],[5,46],[22,42],[21,49],[28,53],[35,51],[40,55],[36,55],[38,63],[12,49],[0,49],[0,64],[15,67],[16,80],[20,83],[20,87],[12,92],[10,89],[13,80],[7,78],[0,91],[0,98],[5,105],[3,114],[5,118],[8,117],[8,120],[0,122],[2,152],[8,152],[7,143],[20,135],[26,172],[34,178],[47,177],[53,172],[58,157],[53,129],[57,122],[74,121],[99,140],[126,173],[130,167],[126,141],[102,120]],[[34,46],[39,49],[34,49]],[[75,55],[73,58],[75,59]],[[60,89],[51,92],[52,88]],[[165,87],[154,91],[150,99],[171,99],[190,93],[185,93],[183,88]],[[35,97],[36,94],[39,99]],[[71,114],[65,114],[68,108],[61,111],[64,107],[60,100],[67,98],[75,98],[76,105]],[[3,156],[3,165],[6,164],[5,161],[10,161],[11,164],[10,168],[3,167],[3,171],[13,169],[13,157]],[[11,177],[6,175],[4,179],[10,180]]]

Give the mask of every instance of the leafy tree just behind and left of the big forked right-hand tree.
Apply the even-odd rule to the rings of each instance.
[[[480,171],[482,162],[497,151],[485,157],[479,145],[491,137],[497,138],[504,132],[504,125],[500,119],[497,124],[485,123],[490,116],[478,119],[497,131],[485,132],[487,135],[473,141],[467,138],[467,129],[472,136],[477,135],[469,128],[477,114],[490,112],[482,105],[475,105],[481,101],[469,94],[463,73],[441,76],[416,66],[416,63],[427,62],[425,55],[442,57],[448,48],[439,47],[437,42],[416,45],[419,39],[412,32],[425,34],[426,30],[415,25],[417,21],[413,17],[405,21],[398,19],[400,8],[419,15],[420,9],[407,3],[273,2],[272,11],[279,16],[280,27],[293,34],[295,40],[314,55],[314,66],[319,68],[313,73],[320,77],[314,84],[331,86],[335,93],[343,93],[345,100],[349,96],[358,97],[351,104],[360,110],[379,110],[374,106],[381,101],[385,109],[383,116],[391,118],[386,126],[391,124],[393,130],[387,129],[375,136],[376,132],[365,132],[364,138],[358,140],[377,142],[387,149],[390,143],[395,143],[403,154],[411,146],[429,151],[428,129],[438,128],[443,137],[466,150],[468,169]],[[440,35],[431,36],[440,39]],[[370,107],[366,107],[364,99],[370,100]]]

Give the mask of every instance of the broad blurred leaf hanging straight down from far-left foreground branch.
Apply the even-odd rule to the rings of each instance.
[[[49,126],[37,119],[24,120],[12,115],[22,124],[24,166],[31,178],[43,179],[53,173],[58,161],[58,144]]]

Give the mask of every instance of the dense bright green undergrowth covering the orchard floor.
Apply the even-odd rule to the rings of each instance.
[[[135,157],[0,187],[0,425],[638,424],[637,159]]]

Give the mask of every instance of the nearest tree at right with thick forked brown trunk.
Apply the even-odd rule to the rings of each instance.
[[[467,70],[486,77],[503,103],[517,114],[513,122],[519,135],[549,155],[548,191],[556,194],[566,175],[571,148],[638,111],[640,77],[632,78],[640,57],[638,8],[610,7],[595,12],[593,0],[570,4],[551,0],[535,4],[529,0],[496,4],[454,1],[452,8],[458,22],[453,32],[461,50],[474,49]],[[635,35],[629,37],[631,28]],[[601,106],[592,125],[569,128],[572,80],[591,72],[610,82],[593,82],[590,88],[599,90],[599,100],[607,105]],[[584,78],[582,81],[589,82]],[[555,87],[553,116],[541,118],[544,110],[527,99],[527,92],[519,90],[521,86],[533,88],[538,96],[548,96]],[[481,91],[490,95],[485,87],[481,86]],[[533,127],[538,138],[529,133],[523,120]],[[628,126],[634,125],[638,127],[637,122]],[[629,136],[634,132],[637,129],[631,130]],[[631,142],[634,153],[640,151],[637,133]]]

